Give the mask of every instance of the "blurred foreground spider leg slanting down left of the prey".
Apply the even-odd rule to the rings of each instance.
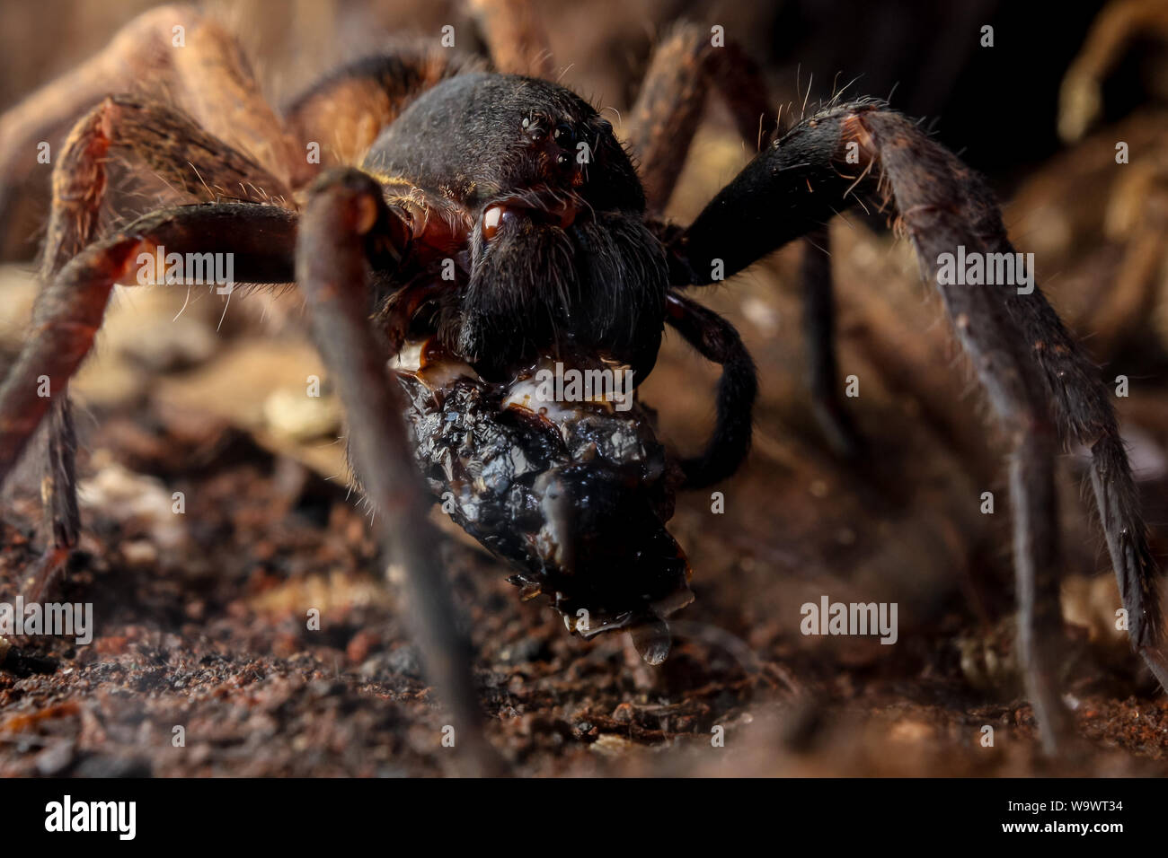
[[[350,455],[378,516],[382,549],[406,573],[426,669],[459,726],[456,742],[467,749],[468,768],[486,774],[499,766],[481,733],[471,648],[458,633],[433,550],[426,517],[431,502],[411,453],[403,397],[368,320],[370,240],[390,226],[391,215],[373,179],[343,169],[322,175],[310,191],[297,280],[318,348],[345,403]]]

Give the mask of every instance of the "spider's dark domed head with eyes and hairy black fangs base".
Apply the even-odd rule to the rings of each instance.
[[[510,75],[427,91],[374,144],[366,169],[399,176],[465,224],[449,347],[486,376],[569,344],[630,363],[661,340],[666,260],[612,126],[575,92]]]

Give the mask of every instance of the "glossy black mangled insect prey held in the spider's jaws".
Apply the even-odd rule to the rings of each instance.
[[[584,637],[628,629],[645,661],[665,661],[666,620],[694,599],[665,526],[682,476],[624,370],[544,355],[488,383],[433,340],[390,365],[443,511],[516,570],[522,598],[547,595]]]

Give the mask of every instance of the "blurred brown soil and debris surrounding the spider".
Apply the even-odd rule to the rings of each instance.
[[[0,111],[100,50],[138,0],[16,0],[0,12]],[[473,18],[433,0],[208,2],[237,36],[269,102],[391,41],[481,49]],[[561,82],[626,112],[654,37],[689,20],[725,28],[763,67],[776,104],[889,98],[983,172],[1020,250],[1111,379],[1157,556],[1168,554],[1168,0],[1016,4],[777,0],[538,4]],[[983,47],[983,28],[993,47]],[[808,107],[809,110],[811,107]],[[785,111],[786,112],[786,111]],[[614,123],[618,133],[620,121]],[[2,127],[2,126],[0,126]],[[1115,162],[1118,141],[1129,162]],[[57,141],[58,142],[58,141]],[[0,141],[2,144],[2,141]],[[56,142],[54,144],[56,145]],[[752,156],[711,97],[667,214],[691,219]],[[35,294],[48,173],[0,176],[0,349],[13,354]],[[153,194],[153,195],[152,195]],[[126,218],[159,204],[128,195]],[[521,605],[506,570],[457,532],[440,546],[480,651],[496,742],[530,774],[1140,774],[1168,756],[1168,706],[1114,629],[1110,561],[1080,490],[1061,483],[1066,542],[1068,703],[1082,760],[1037,754],[1013,641],[1003,439],[936,297],[885,217],[832,224],[840,383],[871,454],[836,458],[811,416],[792,245],[700,298],[759,364],[756,445],[670,525],[697,601],[651,672],[617,637],[569,637]],[[306,402],[321,374],[299,299],[118,290],[77,382],[86,536],[71,592],[98,600],[99,637],[68,677],[0,677],[0,772],[430,774],[440,714],[375,573],[363,514],[345,489],[339,409]],[[661,437],[702,442],[716,372],[669,341],[645,399]],[[327,379],[326,379],[327,390]],[[35,472],[9,490],[0,594],[40,538]],[[182,524],[173,490],[189,498]],[[993,515],[981,496],[997,501]],[[901,641],[812,639],[799,606],[821,594],[896,601]],[[320,633],[305,606],[324,606]],[[151,667],[152,665],[152,667]],[[195,667],[197,665],[197,667]],[[48,711],[43,699],[65,704]],[[37,700],[41,700],[39,703]],[[67,705],[68,704],[68,705]],[[169,725],[188,725],[171,748]],[[994,747],[981,727],[999,731]],[[437,726],[436,726],[437,725]],[[709,747],[726,727],[725,749]],[[1161,768],[1157,769],[1157,763]]]

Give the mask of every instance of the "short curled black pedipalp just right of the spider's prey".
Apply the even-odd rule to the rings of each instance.
[[[681,462],[686,486],[702,488],[734,474],[750,452],[758,393],[755,362],[730,322],[676,292],[666,298],[666,321],[702,357],[722,365],[714,437],[700,456]]]

